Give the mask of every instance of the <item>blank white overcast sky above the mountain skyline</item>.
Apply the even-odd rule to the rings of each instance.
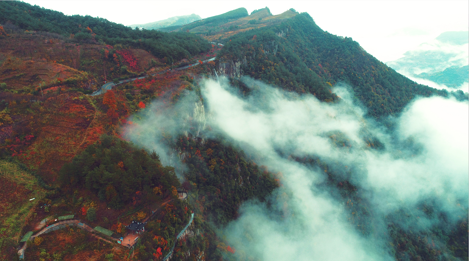
[[[26,0],[65,15],[91,15],[124,25],[164,20],[176,15],[202,18],[245,7],[249,13],[269,7],[273,15],[289,8],[307,12],[323,30],[352,37],[383,62],[396,60],[445,31],[469,30],[469,1],[285,1],[285,0]]]

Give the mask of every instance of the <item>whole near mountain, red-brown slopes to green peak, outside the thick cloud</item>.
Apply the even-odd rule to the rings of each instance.
[[[215,60],[203,62],[209,58]],[[197,66],[170,70],[189,64]],[[252,79],[286,91],[279,93],[292,101],[315,96],[318,106],[340,104],[333,90],[345,86],[355,105],[367,113],[360,119],[357,137],[365,148],[336,129],[321,135],[346,157],[360,149],[361,156],[384,153],[380,139],[397,139],[388,116],[399,116],[416,97],[454,95],[468,100],[467,93],[448,93],[409,80],[352,38],[322,30],[307,13],[290,9],[272,15],[267,7],[251,14],[238,8],[157,31],[1,1],[0,72],[0,198],[5,206],[0,259],[6,260],[18,260],[15,249],[26,232],[36,233],[46,219],[71,213],[92,227],[111,231],[112,237],[96,233],[97,238],[70,226],[28,241],[26,256],[149,261],[173,253],[172,259],[184,261],[257,260],[229,246],[223,230],[240,216],[246,201],[274,209],[273,219],[289,220],[290,194],[281,172],[270,172],[258,164],[258,154],[243,151],[242,142],[209,125],[215,116],[209,112],[203,85],[215,74],[226,76],[246,104],[269,101]],[[85,95],[105,82],[136,75],[148,77],[115,85],[103,95]],[[274,111],[249,109],[266,115]],[[336,116],[340,121],[339,115],[329,114],[323,121]],[[388,127],[383,128],[388,133],[373,135],[367,118]],[[412,137],[401,143],[411,149],[395,149],[394,158],[414,157],[423,150]],[[279,148],[274,149],[279,162],[301,164],[324,175],[318,192],[347,202],[344,215],[363,237],[378,234],[366,198],[369,191],[359,184],[361,176],[357,178],[364,175],[360,167]],[[181,200],[182,192],[189,194],[187,200]],[[35,201],[24,202],[33,197]],[[420,218],[414,212],[400,209],[386,216],[387,227],[381,232],[389,235],[385,249],[393,258],[467,260],[467,219],[446,223],[446,214],[433,203],[419,203],[426,217],[437,220],[424,231],[401,226],[402,220],[409,224]],[[193,223],[176,240],[192,216]],[[112,240],[126,236],[125,226],[133,220],[148,222],[137,245],[115,246]],[[249,233],[242,237],[256,240]],[[67,243],[54,244],[57,238]],[[112,243],[103,243],[106,240]]]

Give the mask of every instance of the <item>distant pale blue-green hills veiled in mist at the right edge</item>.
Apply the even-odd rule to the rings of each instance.
[[[386,62],[408,77],[430,80],[458,88],[469,81],[469,32],[444,32],[435,39]]]

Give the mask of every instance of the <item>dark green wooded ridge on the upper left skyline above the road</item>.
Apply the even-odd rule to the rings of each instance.
[[[133,30],[103,18],[68,16],[19,1],[2,1],[0,13],[0,23],[7,28],[13,24],[23,30],[57,33],[76,42],[127,45],[150,51],[158,58],[167,57],[170,62],[206,52],[210,47],[207,41],[186,32]]]

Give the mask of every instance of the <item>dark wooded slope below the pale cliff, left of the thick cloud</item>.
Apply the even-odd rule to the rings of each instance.
[[[175,145],[188,155],[184,159],[189,169],[185,178],[197,186],[197,205],[208,210],[218,224],[236,218],[243,201],[262,201],[279,186],[272,173],[260,169],[229,142],[208,140],[204,146],[180,137]]]

